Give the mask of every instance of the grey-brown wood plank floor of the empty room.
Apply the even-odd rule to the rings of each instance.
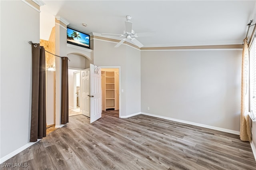
[[[256,170],[250,143],[235,134],[146,115],[120,119],[114,111],[92,124],[84,115],[69,119],[4,163],[27,163],[26,170]]]

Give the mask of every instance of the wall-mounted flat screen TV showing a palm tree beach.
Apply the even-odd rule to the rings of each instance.
[[[90,48],[90,35],[74,30],[73,28],[67,28],[67,43]]]

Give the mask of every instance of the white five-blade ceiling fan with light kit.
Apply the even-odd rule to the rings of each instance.
[[[135,34],[134,30],[132,30],[132,22],[130,22],[131,19],[132,19],[131,16],[126,16],[124,34],[104,34],[104,33],[102,33],[101,35],[124,37],[124,39],[122,39],[120,42],[118,42],[115,47],[119,47],[122,43],[124,43],[125,41],[129,41],[129,40],[132,41],[138,47],[143,47],[144,45],[142,43],[140,43],[136,38],[144,37],[144,36],[151,36],[152,34],[154,34],[154,32],[143,32],[143,33]]]

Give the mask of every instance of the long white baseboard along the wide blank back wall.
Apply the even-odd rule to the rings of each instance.
[[[226,129],[226,128],[213,127],[213,126],[204,125],[204,124],[200,124],[200,123],[189,122],[189,121],[182,121],[182,120],[180,120],[180,119],[173,119],[173,118],[170,118],[170,117],[164,117],[164,116],[159,116],[159,115],[153,115],[153,114],[144,113],[144,112],[141,112],[141,114],[142,114],[142,115],[152,116],[152,117],[158,117],[158,118],[166,119],[166,120],[170,120],[170,121],[176,121],[176,122],[180,122],[180,123],[186,123],[186,124],[189,124],[189,125],[195,125],[195,126],[198,126],[198,127],[210,128],[210,129],[219,130],[219,131],[222,131],[222,132],[228,132],[228,133],[238,134],[238,135],[240,134],[239,131],[230,130],[230,129]]]

